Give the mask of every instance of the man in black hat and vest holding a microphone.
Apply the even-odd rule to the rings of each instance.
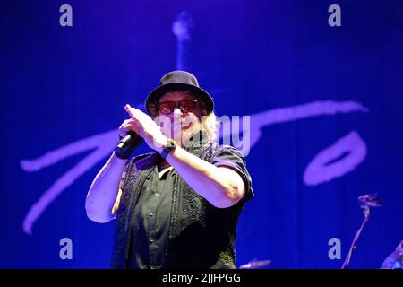
[[[210,94],[193,74],[165,74],[145,102],[147,115],[126,105],[130,119],[94,179],[85,208],[90,220],[116,219],[112,268],[236,268],[236,224],[253,197],[236,148],[217,144]],[[131,157],[142,142],[155,152]]]

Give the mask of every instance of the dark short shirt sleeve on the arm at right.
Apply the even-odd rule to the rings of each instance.
[[[230,145],[219,146],[218,150],[214,153],[211,163],[217,167],[225,166],[231,170],[236,171],[244,180],[245,194],[243,199],[250,200],[253,196],[252,178],[246,170],[246,161],[244,156],[235,147]]]

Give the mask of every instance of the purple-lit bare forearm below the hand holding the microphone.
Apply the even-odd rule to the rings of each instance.
[[[125,163],[126,160],[118,159],[113,153],[92,182],[85,201],[85,209],[90,220],[103,223],[113,218],[111,211]]]

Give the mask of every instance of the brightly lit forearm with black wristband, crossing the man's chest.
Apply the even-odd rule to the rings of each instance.
[[[244,196],[244,183],[234,170],[216,167],[179,146],[169,153],[167,161],[194,191],[216,207],[229,207]]]

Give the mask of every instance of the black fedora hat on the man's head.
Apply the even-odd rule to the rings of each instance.
[[[214,109],[214,102],[207,91],[201,89],[196,77],[185,71],[172,71],[164,74],[159,81],[159,86],[151,91],[145,101],[145,109],[152,115],[155,112],[155,104],[167,91],[188,90],[200,98],[208,114]]]

